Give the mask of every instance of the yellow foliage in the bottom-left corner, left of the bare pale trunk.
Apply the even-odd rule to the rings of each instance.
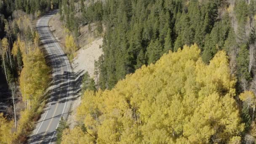
[[[13,126],[13,120],[8,121],[3,113],[0,113],[0,144],[12,144],[15,130]]]

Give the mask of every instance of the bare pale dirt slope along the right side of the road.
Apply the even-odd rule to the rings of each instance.
[[[61,43],[61,47],[65,45],[65,37],[68,34],[67,30],[63,27],[62,22],[60,21],[59,13],[54,15],[49,21],[49,27],[51,28],[53,35]],[[79,50],[76,52],[76,56],[71,61],[72,68],[75,78],[75,91],[74,98],[76,100],[72,104],[70,109],[71,114],[67,120],[69,127],[74,128],[76,125],[75,114],[76,109],[81,103],[81,94],[80,88],[82,84],[82,78],[85,72],[88,72],[89,75],[96,79],[94,76],[94,61],[98,61],[99,57],[103,54],[101,45],[103,43],[102,37],[95,37],[95,24],[91,24],[91,32],[88,30],[88,25],[80,27],[80,36],[77,38],[76,43],[79,45]]]

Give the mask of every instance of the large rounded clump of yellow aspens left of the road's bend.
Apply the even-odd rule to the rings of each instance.
[[[23,55],[23,63],[24,68],[19,78],[23,101],[37,101],[47,88],[50,68],[46,65],[39,48]]]

